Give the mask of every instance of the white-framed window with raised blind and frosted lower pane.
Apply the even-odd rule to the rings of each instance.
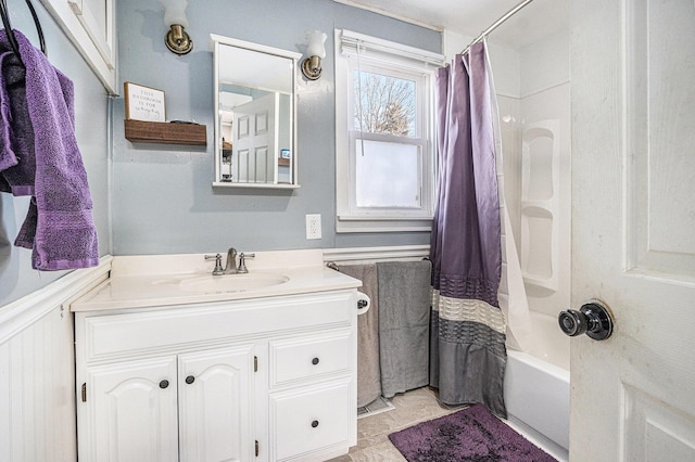
[[[442,56],[336,31],[337,231],[429,231]]]

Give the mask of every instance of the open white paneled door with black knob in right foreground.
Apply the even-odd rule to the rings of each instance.
[[[695,461],[695,3],[570,0],[570,459]]]

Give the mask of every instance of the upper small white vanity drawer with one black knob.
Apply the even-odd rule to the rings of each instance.
[[[351,330],[270,341],[270,387],[340,371],[350,371],[356,348]]]

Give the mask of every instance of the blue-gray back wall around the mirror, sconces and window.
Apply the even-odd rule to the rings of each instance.
[[[207,147],[131,143],[124,139],[124,102],[114,102],[114,255],[429,244],[429,233],[334,232],[333,29],[348,28],[441,51],[440,33],[330,0],[189,2],[193,51],[164,46],[157,0],[118,2],[123,81],[165,91],[168,119],[207,126]],[[324,76],[301,79],[298,154],[301,189],[293,192],[213,190],[213,57],[210,34],[305,51],[307,30],[326,31]],[[242,64],[240,64],[242,65]],[[323,239],[305,239],[305,214],[321,214]]]

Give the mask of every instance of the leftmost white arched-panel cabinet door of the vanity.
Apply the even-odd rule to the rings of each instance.
[[[177,461],[176,388],[176,356],[88,368],[79,460]]]

